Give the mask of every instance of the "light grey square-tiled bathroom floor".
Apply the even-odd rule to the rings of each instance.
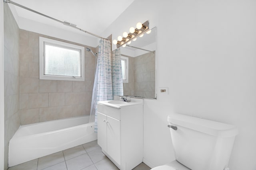
[[[8,170],[118,170],[102,153],[97,141],[66,149],[8,168]],[[150,170],[141,163],[133,170]]]

